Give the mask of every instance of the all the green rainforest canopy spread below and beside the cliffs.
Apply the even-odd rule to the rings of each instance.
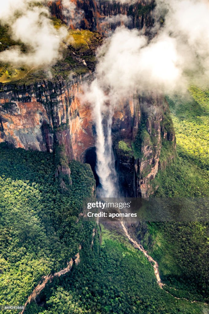
[[[186,99],[167,100],[177,156],[158,172],[153,196],[208,197],[208,162],[196,153],[207,156],[207,92],[193,87]],[[83,197],[94,187],[88,165],[72,161],[72,185],[63,190],[55,177],[59,156],[4,144],[0,154],[2,305],[23,305],[41,277],[66,267],[85,239],[79,265],[48,283],[26,313],[202,313],[203,303],[190,301],[208,297],[207,223],[147,224],[140,241],[159,263],[166,283],[161,290],[150,263],[118,228],[110,232],[102,226],[91,248],[93,225],[77,219]]]

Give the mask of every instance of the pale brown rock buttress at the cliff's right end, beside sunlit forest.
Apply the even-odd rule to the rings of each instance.
[[[169,116],[168,103],[162,95],[154,95],[148,100],[142,98],[142,126],[136,139],[139,140],[139,137],[142,142],[141,151],[134,165],[137,176],[137,195],[148,197],[152,192],[152,179],[161,166],[162,145],[168,143],[166,153],[171,158],[175,155],[175,131]],[[167,162],[167,158],[165,160]]]

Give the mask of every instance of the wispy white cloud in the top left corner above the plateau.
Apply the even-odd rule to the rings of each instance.
[[[23,42],[28,52],[19,46],[0,53],[0,61],[13,65],[51,65],[61,55],[61,43],[67,36],[65,27],[54,28],[48,8],[33,6],[32,0],[1,0],[0,21],[9,24],[12,38]],[[45,1],[43,0],[44,4]]]

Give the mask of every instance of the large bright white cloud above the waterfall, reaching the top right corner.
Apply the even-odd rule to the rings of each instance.
[[[98,52],[100,87],[115,97],[133,92],[173,93],[209,81],[209,6],[204,0],[157,0],[151,40],[140,30],[118,27]],[[157,27],[158,25],[158,27]]]

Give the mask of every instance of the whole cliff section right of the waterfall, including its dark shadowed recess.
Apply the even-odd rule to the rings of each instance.
[[[125,196],[148,197],[152,179],[175,155],[175,132],[165,98],[133,95],[113,122],[113,145],[121,189]],[[163,162],[160,156],[166,153]]]

